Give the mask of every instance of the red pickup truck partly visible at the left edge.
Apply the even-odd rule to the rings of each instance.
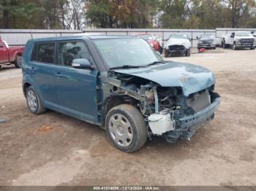
[[[16,68],[21,67],[24,47],[9,47],[7,42],[0,39],[0,69],[1,66],[15,64]]]

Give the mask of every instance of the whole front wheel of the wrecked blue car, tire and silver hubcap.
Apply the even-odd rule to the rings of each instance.
[[[146,143],[146,122],[134,106],[115,106],[108,112],[105,124],[108,138],[121,151],[135,152]]]

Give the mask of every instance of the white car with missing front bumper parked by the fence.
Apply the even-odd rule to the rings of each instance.
[[[177,54],[190,56],[191,47],[187,34],[172,34],[165,44],[165,57]]]

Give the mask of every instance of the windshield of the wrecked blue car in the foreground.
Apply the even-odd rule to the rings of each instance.
[[[110,68],[147,66],[162,61],[162,57],[143,39],[94,39],[94,42]]]

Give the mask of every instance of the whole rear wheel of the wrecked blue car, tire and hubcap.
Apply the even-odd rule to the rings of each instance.
[[[42,114],[46,110],[39,96],[31,86],[26,88],[26,103],[30,112],[33,114]]]

